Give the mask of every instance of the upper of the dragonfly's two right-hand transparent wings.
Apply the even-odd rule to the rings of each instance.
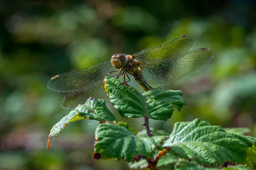
[[[195,40],[193,37],[181,35],[161,45],[139,51],[134,54],[134,57],[143,63],[167,58],[169,61],[177,61],[185,56],[193,48],[194,44]]]

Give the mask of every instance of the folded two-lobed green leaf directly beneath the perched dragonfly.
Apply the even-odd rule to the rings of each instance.
[[[149,117],[156,120],[167,120],[174,108],[179,111],[185,100],[181,91],[162,91],[160,89],[140,94],[133,87],[127,87],[117,79],[106,77],[105,90],[114,108],[125,118]]]

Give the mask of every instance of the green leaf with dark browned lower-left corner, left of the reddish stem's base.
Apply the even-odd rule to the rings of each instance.
[[[123,126],[106,122],[96,128],[95,140],[94,158],[131,162],[152,156],[166,136],[137,137]]]

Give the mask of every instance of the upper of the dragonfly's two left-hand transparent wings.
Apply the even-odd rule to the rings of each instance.
[[[82,91],[100,84],[104,77],[113,70],[115,68],[110,61],[102,62],[78,71],[54,76],[47,83],[47,88],[59,92]]]

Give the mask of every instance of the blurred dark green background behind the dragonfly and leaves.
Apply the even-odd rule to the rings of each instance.
[[[150,125],[171,132],[175,122],[200,118],[256,136],[255,9],[253,0],[1,0],[0,169],[127,170],[124,161],[93,160],[97,122],[68,125],[47,150],[49,130],[70,111],[47,81],[182,34],[215,57],[162,87],[182,90],[187,105]],[[144,129],[143,119],[122,120]]]

